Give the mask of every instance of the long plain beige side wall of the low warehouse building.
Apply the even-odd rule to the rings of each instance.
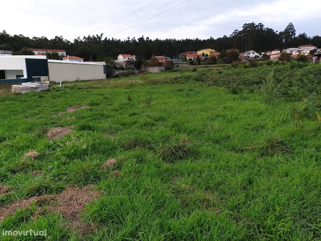
[[[49,77],[50,81],[59,83],[62,81],[76,80],[94,80],[105,79],[103,65],[80,64],[64,61],[49,62]]]

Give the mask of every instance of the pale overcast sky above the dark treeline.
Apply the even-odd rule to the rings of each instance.
[[[104,33],[103,37],[110,35],[108,38],[121,40],[128,36],[137,39],[142,35],[151,39],[207,39],[211,36],[229,36],[236,29],[241,30],[243,24],[248,22],[261,22],[275,31],[283,31],[292,22],[297,35],[302,32],[311,37],[321,34],[321,15],[313,14],[313,9],[318,9],[320,5],[319,0],[184,1],[186,0],[2,1],[0,29],[5,29],[10,35],[48,38],[62,35],[68,40],[88,36],[90,32],[91,35]],[[162,7],[165,4],[168,5]],[[178,6],[174,7],[175,5]],[[144,8],[133,13],[142,7]],[[172,7],[174,8],[170,9]],[[157,8],[160,9],[152,12]],[[168,9],[170,10],[162,13]],[[130,13],[133,14],[125,17]],[[143,16],[145,14],[147,15]],[[160,15],[147,20],[157,14]],[[125,18],[103,27],[122,17]],[[135,21],[126,24],[133,20]],[[143,23],[125,30],[140,22]],[[119,27],[121,25],[124,26]]]

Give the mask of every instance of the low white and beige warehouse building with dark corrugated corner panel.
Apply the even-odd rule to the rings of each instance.
[[[106,67],[102,64],[84,62],[66,62],[48,60],[46,56],[13,55],[0,56],[0,83],[25,83],[30,81],[47,81],[48,69],[50,81],[95,80],[106,78]]]

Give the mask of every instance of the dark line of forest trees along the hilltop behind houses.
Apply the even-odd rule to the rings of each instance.
[[[235,30],[230,36],[205,40],[201,39],[155,39],[144,36],[136,39],[128,37],[126,40],[103,38],[100,35],[88,35],[78,37],[73,42],[65,40],[63,36],[56,36],[53,39],[47,37],[25,37],[19,35],[9,35],[6,31],[0,34],[0,47],[4,50],[18,51],[23,47],[65,49],[68,55],[75,55],[85,60],[102,61],[106,57],[116,58],[119,54],[136,55],[139,59],[149,59],[152,55],[165,55],[171,58],[176,57],[181,52],[211,48],[217,51],[223,49],[239,49],[240,52],[246,50],[268,51],[273,49],[285,49],[298,47],[303,44],[321,46],[321,36],[309,37],[306,33],[296,35],[292,23],[283,31],[274,31],[265,28],[262,23],[245,23],[242,30]],[[91,56],[90,56],[91,54]]]

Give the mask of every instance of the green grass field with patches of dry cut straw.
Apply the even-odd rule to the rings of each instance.
[[[0,96],[0,239],[320,240],[320,123],[208,73]]]

